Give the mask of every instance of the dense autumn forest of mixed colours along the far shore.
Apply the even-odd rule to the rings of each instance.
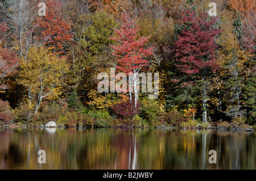
[[[255,4],[2,0],[0,124],[255,127]],[[111,69],[159,73],[158,97],[99,92]]]

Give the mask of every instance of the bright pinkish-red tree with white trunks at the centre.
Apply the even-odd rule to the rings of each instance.
[[[137,110],[138,108],[139,80],[137,79],[137,75],[139,74],[139,71],[148,64],[146,57],[153,54],[153,47],[148,49],[144,48],[144,45],[150,36],[139,37],[139,30],[140,27],[136,24],[135,20],[131,18],[129,14],[124,12],[122,28],[115,30],[114,37],[111,38],[119,44],[110,46],[113,49],[112,56],[117,60],[117,70],[122,71],[127,75],[133,73],[133,80],[129,83],[134,87],[134,110]],[[131,101],[133,96],[131,90],[129,92]],[[135,112],[134,115],[136,115]]]

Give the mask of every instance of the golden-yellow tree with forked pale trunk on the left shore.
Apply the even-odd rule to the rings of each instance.
[[[43,47],[31,47],[27,59],[23,58],[21,61],[19,81],[28,89],[29,104],[30,107],[34,107],[35,114],[42,99],[61,93],[63,76],[67,71],[68,64],[65,58],[59,58]]]

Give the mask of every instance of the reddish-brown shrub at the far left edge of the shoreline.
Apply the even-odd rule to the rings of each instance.
[[[13,115],[13,111],[11,111],[9,102],[0,100],[0,121],[9,123],[13,119],[14,119],[14,115]]]

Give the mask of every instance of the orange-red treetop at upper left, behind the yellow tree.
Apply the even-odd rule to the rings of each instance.
[[[35,26],[38,27],[38,37],[53,53],[66,53],[73,43],[71,24],[61,18],[60,0],[46,1],[46,16],[38,16]]]

